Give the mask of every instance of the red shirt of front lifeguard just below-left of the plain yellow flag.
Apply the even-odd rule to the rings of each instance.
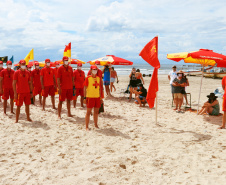
[[[17,70],[14,73],[13,80],[17,80],[17,93],[30,93],[29,81],[31,80],[30,73],[27,70]]]

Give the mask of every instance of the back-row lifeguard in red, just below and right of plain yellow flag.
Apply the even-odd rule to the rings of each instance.
[[[42,105],[42,85],[41,85],[41,70],[39,69],[38,61],[34,61],[35,68],[31,71],[31,81],[33,84],[33,102],[35,104],[35,96],[39,95],[39,103]]]

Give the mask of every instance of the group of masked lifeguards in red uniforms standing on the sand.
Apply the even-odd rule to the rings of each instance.
[[[2,96],[4,114],[6,115],[7,100],[10,99],[11,113],[13,112],[13,102],[16,103],[16,123],[19,120],[20,108],[25,104],[25,112],[27,120],[30,118],[29,105],[31,100],[35,104],[35,96],[39,95],[39,102],[45,111],[46,98],[51,96],[52,108],[55,107],[55,94],[59,94],[58,117],[61,119],[62,104],[67,101],[68,116],[71,114],[71,100],[76,107],[76,100],[81,96],[81,106],[86,103],[86,129],[89,130],[89,118],[94,108],[94,123],[98,128],[98,113],[103,98],[103,82],[102,71],[97,68],[99,64],[92,65],[87,77],[82,71],[82,64],[78,63],[77,70],[73,72],[72,67],[68,63],[68,57],[63,57],[63,65],[56,63],[56,68],[50,67],[50,59],[45,60],[45,67],[40,70],[39,63],[35,62],[35,69],[28,70],[30,66],[26,66],[25,60],[20,60],[19,69],[12,70],[12,62],[7,61],[7,68],[3,68],[0,61],[0,96]],[[43,97],[43,98],[42,98]],[[101,98],[102,97],[102,98]]]

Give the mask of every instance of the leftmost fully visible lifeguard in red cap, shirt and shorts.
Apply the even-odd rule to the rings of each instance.
[[[0,94],[2,94],[2,99],[4,100],[3,107],[4,107],[4,114],[6,114],[6,107],[7,107],[7,100],[10,98],[10,105],[11,105],[11,113],[13,112],[13,75],[14,70],[12,70],[12,62],[9,60],[6,63],[7,68],[3,69],[0,72]]]

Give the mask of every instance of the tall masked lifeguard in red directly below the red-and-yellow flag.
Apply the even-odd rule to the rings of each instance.
[[[67,99],[68,117],[72,117],[71,100],[73,98],[73,88],[75,88],[73,69],[71,66],[68,65],[68,57],[64,56],[62,61],[63,61],[63,65],[59,67],[57,72],[57,85],[58,85],[58,93],[59,93],[59,104],[58,104],[59,119],[61,119],[62,105],[66,99]]]

